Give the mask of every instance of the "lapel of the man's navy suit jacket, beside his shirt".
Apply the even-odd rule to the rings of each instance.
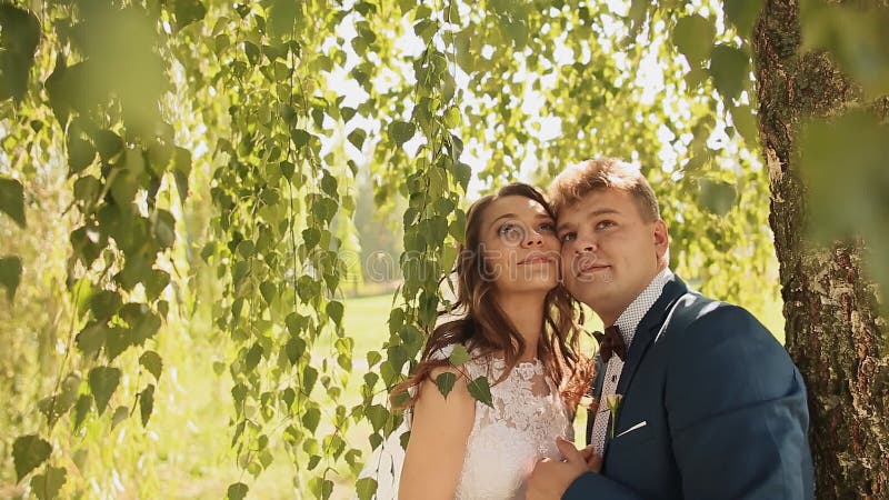
[[[627,352],[627,361],[623,363],[623,370],[620,372],[618,387],[615,389],[616,394],[627,393],[627,388],[630,387],[632,378],[636,376],[636,371],[639,369],[639,364],[645,358],[646,352],[648,352],[648,349],[651,347],[651,342],[655,340],[655,336],[660,330],[660,327],[663,326],[667,314],[669,314],[670,309],[673,307],[676,301],[687,292],[688,286],[686,286],[686,283],[676,274],[673,274],[670,281],[663,286],[663,292],[661,292],[658,300],[655,301],[655,304],[651,306],[651,309],[649,309],[646,316],[642,317],[642,320],[636,328],[636,334],[633,336],[632,343]],[[606,450],[608,449],[608,443],[610,441],[610,433],[607,433],[605,442]]]

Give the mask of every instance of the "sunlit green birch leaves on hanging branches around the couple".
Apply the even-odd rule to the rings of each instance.
[[[469,198],[545,186],[592,156],[642,166],[680,273],[761,309],[777,282],[750,78],[759,7],[3,3],[0,312],[39,361],[21,368],[38,383],[8,383],[16,481],[31,474],[41,498],[82,492],[89,447],[72,443],[101,456],[137,408],[151,432],[176,392],[164,339],[202,332],[189,341],[213,349],[238,468],[257,478],[286,450],[293,488],[330,497],[367,449],[347,432],[369,424],[376,448],[400,422],[386,398],[446,303]],[[848,34],[813,19],[812,43]],[[882,92],[885,73],[859,62],[850,71]],[[368,184],[373,204],[358,198]],[[342,292],[363,272],[350,256],[368,250],[353,221],[374,209],[398,212],[403,281],[389,338],[358,351]],[[67,241],[64,254],[41,257],[39,238]],[[53,282],[63,291],[41,292]],[[7,383],[21,363],[3,363]],[[486,379],[469,390],[490,399]],[[229,498],[250,492],[241,476]]]

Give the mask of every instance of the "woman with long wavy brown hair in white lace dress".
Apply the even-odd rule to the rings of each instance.
[[[509,184],[469,209],[465,241],[455,303],[462,314],[433,330],[392,393],[410,394],[403,467],[397,430],[383,446],[386,463],[372,458],[361,474],[378,478],[377,498],[523,499],[535,464],[561,459],[556,439],[573,440],[590,362],[578,353],[581,330],[559,284],[547,201],[530,186]],[[469,361],[451,362],[457,346]],[[443,373],[457,379],[447,398],[436,384]],[[470,394],[478,377],[490,381],[490,406]],[[389,471],[387,484],[379,478]]]

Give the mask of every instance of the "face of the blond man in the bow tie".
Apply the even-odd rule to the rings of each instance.
[[[666,266],[667,226],[646,220],[632,194],[598,189],[559,212],[562,274],[568,291],[606,323]]]

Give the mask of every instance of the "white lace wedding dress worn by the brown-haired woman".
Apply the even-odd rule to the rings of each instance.
[[[446,349],[441,358],[450,356]],[[503,372],[499,358],[475,358],[463,368],[471,379],[488,377],[493,384]],[[573,440],[573,429],[557,386],[538,360],[517,364],[509,376],[491,387],[493,407],[476,402],[476,420],[467,442],[457,499],[523,499],[526,482],[542,458],[561,459],[556,438]],[[377,498],[398,498],[404,450],[400,437],[410,418],[392,432],[368,460],[361,477],[377,480]]]

